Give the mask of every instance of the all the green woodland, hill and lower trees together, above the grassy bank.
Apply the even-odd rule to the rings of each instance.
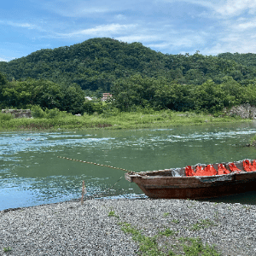
[[[139,108],[216,112],[256,103],[256,55],[164,55],[140,43],[93,38],[0,61],[0,107],[58,108],[69,113]],[[111,92],[107,107],[84,102]],[[110,111],[110,110],[109,110]]]

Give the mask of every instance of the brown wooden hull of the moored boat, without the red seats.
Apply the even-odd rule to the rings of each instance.
[[[205,199],[256,190],[256,172],[214,177],[161,177],[125,174],[125,178],[150,198]]]

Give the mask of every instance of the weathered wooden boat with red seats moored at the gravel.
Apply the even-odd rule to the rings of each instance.
[[[125,179],[137,183],[150,198],[203,199],[234,195],[256,190],[256,161],[126,172]]]

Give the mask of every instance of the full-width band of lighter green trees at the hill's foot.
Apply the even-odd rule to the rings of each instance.
[[[223,83],[211,79],[200,85],[178,84],[161,78],[143,78],[135,74],[127,79],[117,79],[111,87],[113,98],[109,104],[89,102],[78,84],[56,84],[43,79],[11,81],[0,73],[0,107],[43,109],[58,108],[68,113],[102,113],[137,111],[143,108],[175,111],[207,111],[215,113],[223,108],[249,103],[256,105],[256,79],[239,84],[226,76]]]

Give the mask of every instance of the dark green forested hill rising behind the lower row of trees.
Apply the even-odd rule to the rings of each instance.
[[[165,78],[178,84],[221,84],[230,76],[240,84],[256,75],[255,54],[164,55],[143,44],[93,38],[81,44],[41,49],[26,57],[0,62],[7,79],[48,79],[79,84],[83,89],[110,91],[113,82],[136,73],[143,78]]]

